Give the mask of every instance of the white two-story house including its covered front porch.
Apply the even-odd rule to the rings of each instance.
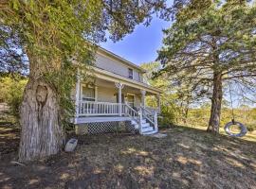
[[[140,134],[157,132],[159,89],[143,82],[146,70],[99,48],[93,67],[94,83],[78,78],[75,90],[78,132],[114,131],[120,124]],[[158,108],[145,107],[145,96],[155,95]]]

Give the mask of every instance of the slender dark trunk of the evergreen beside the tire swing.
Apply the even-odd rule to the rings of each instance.
[[[222,75],[221,73],[215,73],[213,77],[210,121],[207,131],[219,133],[222,97]]]

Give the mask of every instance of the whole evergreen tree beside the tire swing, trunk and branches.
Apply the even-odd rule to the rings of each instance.
[[[217,130],[229,83],[237,87],[237,95],[255,97],[256,5],[244,0],[189,2],[164,30],[158,51],[163,69],[157,76],[170,80],[185,110],[211,100],[209,125]]]

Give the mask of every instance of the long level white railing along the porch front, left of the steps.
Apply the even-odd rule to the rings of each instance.
[[[121,114],[125,112],[125,104],[121,104]],[[81,101],[79,115],[119,115],[119,103]]]

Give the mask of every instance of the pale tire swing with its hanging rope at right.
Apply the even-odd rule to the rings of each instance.
[[[247,127],[242,123],[235,121],[234,119],[234,109],[233,109],[233,102],[232,102],[232,94],[230,90],[230,83],[229,83],[229,94],[230,94],[230,102],[231,102],[231,110],[232,110],[232,120],[225,125],[224,130],[231,137],[243,137],[247,134]],[[239,133],[231,132],[230,131],[231,126],[238,126],[240,129],[240,132]]]

